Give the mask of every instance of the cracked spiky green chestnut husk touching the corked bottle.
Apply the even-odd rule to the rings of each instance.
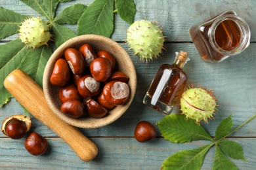
[[[205,88],[190,88],[182,93],[181,111],[186,119],[191,118],[197,124],[201,120],[208,122],[216,110],[216,100],[212,90]]]

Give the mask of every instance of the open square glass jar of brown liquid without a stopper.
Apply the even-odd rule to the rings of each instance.
[[[190,28],[190,37],[204,61],[220,62],[249,46],[249,25],[234,10],[226,10]]]

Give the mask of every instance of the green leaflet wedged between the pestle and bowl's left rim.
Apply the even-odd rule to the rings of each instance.
[[[27,73],[39,86],[43,86],[43,71],[48,59],[53,54],[51,46],[40,46],[35,48],[27,56],[24,56],[17,69],[22,69]]]

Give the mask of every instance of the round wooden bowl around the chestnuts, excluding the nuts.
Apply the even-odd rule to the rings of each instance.
[[[108,110],[106,116],[102,118],[92,118],[90,116],[81,116],[79,118],[71,118],[64,114],[60,110],[62,103],[58,98],[59,88],[58,86],[53,86],[50,82],[51,74],[53,72],[54,63],[59,59],[63,58],[65,50],[68,48],[79,49],[83,44],[90,44],[91,47],[95,50],[95,53],[98,51],[109,52],[116,59],[115,70],[125,73],[129,77],[129,88],[131,90],[130,97],[124,105],[118,105],[114,109]],[[135,95],[137,87],[137,76],[135,71],[135,66],[129,54],[126,50],[123,49],[116,41],[103,37],[101,35],[80,35],[64,42],[59,46],[49,58],[45,71],[43,74],[43,92],[47,104],[53,110],[61,120],[64,122],[81,128],[96,128],[106,126],[116,121],[123,113],[129,108],[133,97]]]

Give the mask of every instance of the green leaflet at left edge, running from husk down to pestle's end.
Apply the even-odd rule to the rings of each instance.
[[[24,46],[20,40],[7,42],[0,46],[0,108],[12,97],[5,89],[5,78],[20,65],[20,62],[31,50]]]

